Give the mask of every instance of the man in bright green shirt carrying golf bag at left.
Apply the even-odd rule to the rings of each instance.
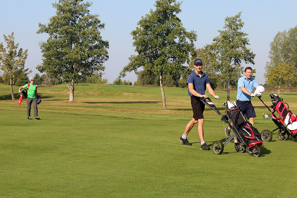
[[[34,117],[35,120],[39,120],[38,117],[38,109],[37,109],[37,85],[34,83],[35,79],[34,77],[30,78],[30,83],[21,86],[19,88],[19,93],[21,93],[21,89],[27,88],[27,118],[28,120],[32,120],[31,118],[31,105],[33,104],[34,109]]]

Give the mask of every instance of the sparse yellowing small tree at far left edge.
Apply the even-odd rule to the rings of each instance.
[[[0,68],[2,70],[2,78],[3,80],[9,80],[10,82],[10,91],[11,91],[11,99],[14,100],[15,96],[13,94],[13,81],[16,75],[28,74],[31,73],[31,70],[25,69],[25,62],[28,56],[28,50],[24,50],[20,48],[17,52],[19,44],[15,44],[15,38],[13,36],[13,32],[11,35],[5,36],[3,35],[4,41],[6,42],[6,51],[3,43],[0,43]]]

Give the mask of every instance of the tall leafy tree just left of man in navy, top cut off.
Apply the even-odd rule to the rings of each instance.
[[[144,67],[144,75],[159,75],[162,93],[163,109],[167,109],[165,92],[163,88],[163,76],[169,73],[178,80],[189,63],[189,53],[194,54],[193,42],[197,35],[194,31],[187,32],[181,20],[176,14],[181,12],[181,3],[176,0],[157,0],[154,6],[137,23],[138,27],[131,32],[133,46],[138,55],[129,57],[129,63],[123,68],[120,75]]]

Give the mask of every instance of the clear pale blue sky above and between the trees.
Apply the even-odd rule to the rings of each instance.
[[[26,68],[30,68],[34,76],[40,73],[35,67],[42,62],[42,54],[38,42],[45,41],[47,34],[36,34],[38,23],[47,24],[49,18],[55,15],[52,0],[0,0],[0,42],[14,32],[15,42],[19,47],[28,49]],[[136,54],[132,46],[130,32],[137,26],[141,16],[154,9],[154,0],[128,0],[128,1],[99,1],[93,0],[90,7],[91,14],[99,14],[99,19],[105,23],[101,31],[102,38],[108,40],[109,60],[105,62],[106,70],[103,75],[112,83],[121,69],[127,65],[128,57]],[[294,28],[297,25],[297,1],[294,0],[226,0],[226,1],[192,1],[184,0],[181,4],[182,12],[178,14],[187,31],[197,31],[197,48],[210,44],[212,39],[222,30],[226,16],[234,16],[242,12],[241,19],[245,23],[243,31],[250,41],[249,48],[256,54],[255,65],[256,80],[265,83],[265,72],[270,43],[277,34]],[[5,43],[4,43],[5,45]],[[246,66],[243,64],[243,66]],[[126,80],[136,81],[134,73],[128,73]]]

